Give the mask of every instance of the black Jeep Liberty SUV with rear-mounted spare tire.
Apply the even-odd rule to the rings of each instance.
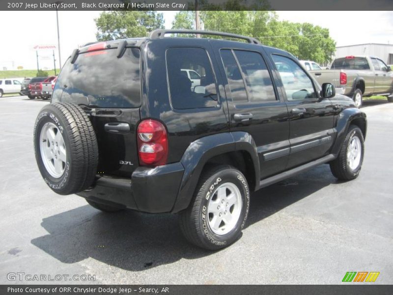
[[[176,33],[215,38],[166,37]],[[240,236],[250,192],[324,163],[357,177],[365,134],[353,100],[287,52],[155,30],[75,50],[34,147],[56,193],[108,212],[179,213],[185,237],[214,250]]]

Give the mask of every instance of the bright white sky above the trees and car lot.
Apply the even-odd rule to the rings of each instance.
[[[75,48],[95,41],[94,18],[100,11],[59,11],[61,62]],[[163,11],[165,27],[171,28],[176,11]],[[280,20],[309,22],[330,30],[337,46],[384,43],[393,44],[391,11],[277,11]],[[0,70],[37,68],[36,45],[56,45],[55,11],[0,11]],[[7,29],[6,29],[7,28]],[[39,52],[40,68],[53,68],[52,51]],[[55,50],[58,67],[58,50]]]

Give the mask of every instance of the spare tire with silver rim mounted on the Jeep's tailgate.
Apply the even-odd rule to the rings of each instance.
[[[34,152],[42,177],[57,194],[83,191],[95,179],[97,138],[75,104],[57,102],[41,109],[34,125]]]

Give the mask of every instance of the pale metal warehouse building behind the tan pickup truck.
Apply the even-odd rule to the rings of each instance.
[[[382,59],[387,64],[393,64],[393,45],[369,43],[336,47],[335,58],[351,55],[373,56]]]

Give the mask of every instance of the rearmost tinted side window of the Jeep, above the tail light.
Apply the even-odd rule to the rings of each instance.
[[[185,71],[194,70],[199,81],[191,81]],[[175,109],[216,107],[218,95],[209,57],[201,48],[169,48],[167,71],[172,106]]]

